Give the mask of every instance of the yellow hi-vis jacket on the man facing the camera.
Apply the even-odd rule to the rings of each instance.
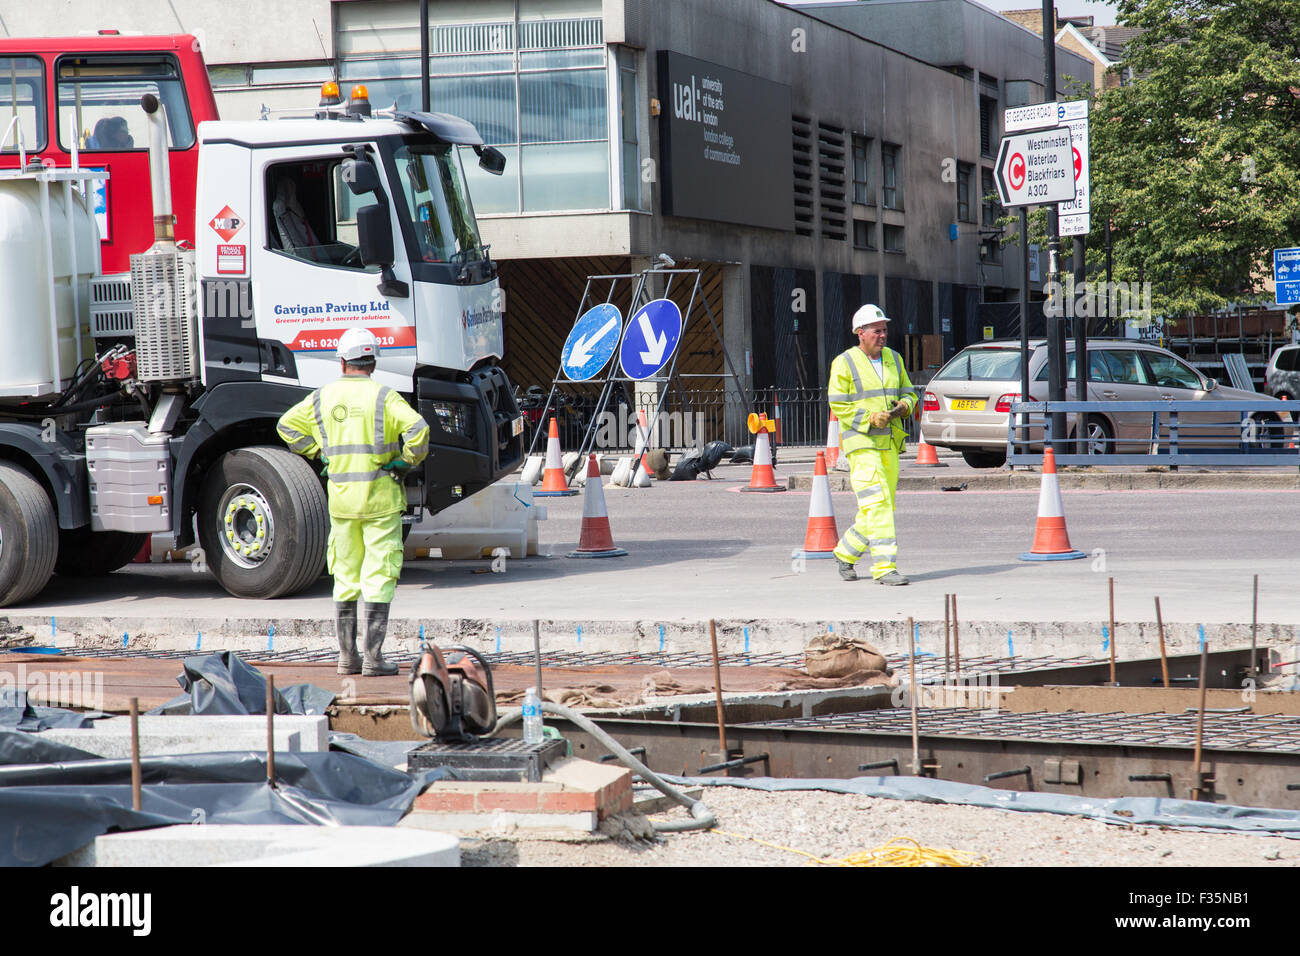
[[[884,428],[872,428],[867,418],[874,411],[889,411],[898,402],[907,403],[907,415],[916,410],[916,392],[902,367],[902,356],[893,349],[880,352],[884,380],[876,375],[871,359],[854,346],[840,352],[831,363],[827,401],[831,414],[840,419],[840,446],[845,454],[862,449],[902,451],[906,431],[902,419],[893,419]]]

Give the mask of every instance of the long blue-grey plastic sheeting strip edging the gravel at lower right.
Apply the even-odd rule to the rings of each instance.
[[[679,787],[742,787],[768,792],[823,790],[831,793],[857,793],[888,800],[916,800],[926,804],[961,804],[1030,813],[1061,813],[1091,817],[1118,826],[1167,826],[1180,830],[1213,830],[1268,834],[1300,839],[1300,812],[1264,806],[1205,804],[1164,797],[1078,797],[1069,793],[1035,793],[993,790],[974,783],[933,780],[926,777],[854,777],[852,779],[790,779],[777,777],[712,778],[668,777]]]

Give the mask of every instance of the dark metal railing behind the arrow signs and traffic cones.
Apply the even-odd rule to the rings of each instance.
[[[577,449],[595,419],[598,395],[556,394],[547,419],[558,421],[560,446],[566,451]],[[654,402],[637,406],[649,421],[654,416]],[[636,447],[637,408],[627,405],[621,394],[610,399],[604,412],[595,420],[594,447],[598,451],[630,451]],[[748,428],[750,412],[766,414],[779,421],[777,445],[805,447],[824,447],[831,408],[827,405],[826,389],[754,389],[749,402],[734,388],[725,389],[684,389],[668,388],[651,447],[664,447],[675,451],[702,447],[710,441],[722,440],[740,447],[753,445],[754,436]],[[536,418],[536,416],[534,416]],[[915,418],[904,419],[907,438],[919,434]],[[541,420],[529,420],[525,412],[525,441],[536,454],[546,451],[546,428]],[[534,431],[541,429],[536,447]]]

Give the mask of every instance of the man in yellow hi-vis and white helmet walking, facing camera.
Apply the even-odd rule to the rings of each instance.
[[[878,584],[907,584],[898,572],[893,512],[906,438],[902,420],[916,408],[916,393],[902,356],[885,347],[888,323],[876,306],[859,308],[850,324],[858,345],[831,363],[827,398],[840,420],[840,445],[858,498],[857,520],[835,546],[835,563],[840,578],[857,580],[854,564],[870,550]]]

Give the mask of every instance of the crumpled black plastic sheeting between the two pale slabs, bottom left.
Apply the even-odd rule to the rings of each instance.
[[[16,736],[23,735],[0,735],[0,757],[14,753]],[[350,753],[277,752],[272,787],[264,754],[146,757],[135,812],[129,760],[62,761],[0,766],[0,866],[43,866],[101,834],[174,823],[393,826],[445,775],[404,774]]]

